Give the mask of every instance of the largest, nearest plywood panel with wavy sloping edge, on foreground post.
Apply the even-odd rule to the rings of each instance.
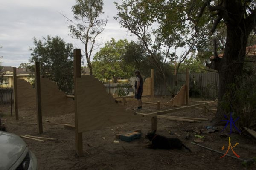
[[[139,119],[106,92],[94,76],[76,78],[78,131],[101,129]]]

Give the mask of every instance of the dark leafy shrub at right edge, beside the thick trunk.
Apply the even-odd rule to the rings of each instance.
[[[221,106],[230,117],[232,112],[233,119],[240,117],[237,121],[240,129],[242,127],[256,126],[256,72],[237,77],[238,84],[229,84],[228,91],[224,94]]]

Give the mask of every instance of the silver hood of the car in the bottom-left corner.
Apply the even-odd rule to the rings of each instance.
[[[8,170],[26,148],[26,143],[19,136],[0,131],[0,170]]]

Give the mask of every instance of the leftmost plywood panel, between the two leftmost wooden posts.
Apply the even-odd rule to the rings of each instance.
[[[35,89],[24,79],[17,79],[18,108],[35,108]]]

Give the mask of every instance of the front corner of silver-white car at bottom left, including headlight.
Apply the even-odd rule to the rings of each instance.
[[[36,170],[37,159],[19,136],[0,131],[0,170]]]

